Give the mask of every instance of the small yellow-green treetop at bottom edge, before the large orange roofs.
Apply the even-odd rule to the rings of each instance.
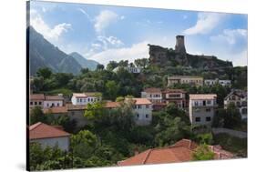
[[[205,144],[200,145],[200,147],[197,147],[195,152],[192,154],[193,160],[210,160],[213,158],[214,158],[214,153]]]

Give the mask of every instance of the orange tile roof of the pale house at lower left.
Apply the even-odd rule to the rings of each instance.
[[[66,131],[58,129],[54,126],[49,126],[38,122],[29,126],[29,139],[54,138],[54,137],[69,137],[70,134]]]

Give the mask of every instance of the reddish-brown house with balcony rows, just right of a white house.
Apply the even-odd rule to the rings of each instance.
[[[187,107],[186,91],[183,89],[166,89],[162,94],[166,104],[173,103],[182,109]]]

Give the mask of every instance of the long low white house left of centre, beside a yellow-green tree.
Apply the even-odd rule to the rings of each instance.
[[[98,92],[88,92],[88,93],[73,93],[71,102],[73,105],[82,105],[94,104],[95,102],[101,101],[101,93]]]

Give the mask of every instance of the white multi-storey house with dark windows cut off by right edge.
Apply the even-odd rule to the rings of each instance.
[[[234,89],[228,96],[224,98],[224,108],[227,108],[230,103],[233,103],[240,111],[241,118],[247,119],[247,92]]]

